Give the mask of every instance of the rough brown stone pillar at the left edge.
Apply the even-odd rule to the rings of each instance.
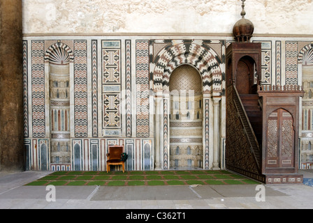
[[[22,171],[22,1],[0,1],[0,171]]]

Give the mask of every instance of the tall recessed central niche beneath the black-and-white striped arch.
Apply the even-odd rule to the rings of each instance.
[[[203,84],[200,73],[183,64],[170,75],[170,168],[202,168]],[[179,118],[177,118],[179,116]],[[194,153],[196,147],[201,153]],[[177,148],[181,148],[177,153]],[[193,157],[194,156],[194,157]],[[188,161],[189,160],[189,161]],[[178,163],[177,163],[178,162]]]

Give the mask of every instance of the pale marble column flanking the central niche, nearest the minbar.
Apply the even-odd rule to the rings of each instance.
[[[219,168],[219,102],[221,98],[213,98],[214,107],[214,139],[213,139],[213,167],[212,169]]]

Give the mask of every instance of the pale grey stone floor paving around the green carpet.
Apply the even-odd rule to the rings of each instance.
[[[313,208],[308,185],[24,186],[51,172],[0,173],[1,209],[297,209]],[[312,170],[300,170],[313,178]],[[263,187],[262,187],[263,186]]]

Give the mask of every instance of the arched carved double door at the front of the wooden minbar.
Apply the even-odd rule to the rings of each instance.
[[[268,117],[267,167],[294,167],[293,117],[284,109],[277,109]]]

